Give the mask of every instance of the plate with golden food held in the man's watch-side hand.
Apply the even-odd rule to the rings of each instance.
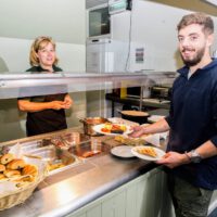
[[[131,153],[139,158],[154,162],[161,159],[166,154],[161,149],[146,145],[135,146],[131,149]]]

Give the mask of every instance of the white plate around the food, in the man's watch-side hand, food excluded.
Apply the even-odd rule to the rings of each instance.
[[[146,145],[145,145],[145,146],[146,146]],[[146,148],[150,148],[150,146],[146,146]],[[132,148],[132,149],[131,149],[131,153],[132,153],[135,156],[139,157],[139,158],[146,159],[146,161],[154,161],[154,162],[161,159],[161,158],[165,155],[165,152],[164,152],[163,150],[157,149],[157,148],[154,148],[154,146],[152,146],[152,148],[154,149],[154,151],[155,151],[156,154],[157,154],[156,157],[153,157],[153,156],[149,156],[149,155],[145,155],[145,154],[140,154],[140,153],[138,153],[137,150],[138,150],[138,149],[144,149],[143,145]]]

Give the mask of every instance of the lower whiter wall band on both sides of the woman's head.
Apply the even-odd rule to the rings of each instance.
[[[55,40],[55,39],[54,39]],[[29,48],[34,40],[0,37],[0,58],[10,72],[25,72],[29,65]],[[59,65],[67,72],[85,72],[86,46],[56,41]]]

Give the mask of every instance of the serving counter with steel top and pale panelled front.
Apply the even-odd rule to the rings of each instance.
[[[157,114],[167,111],[159,110]],[[155,113],[156,114],[156,113]],[[59,133],[80,131],[80,128]],[[49,133],[48,137],[53,133]],[[56,135],[56,133],[54,133]],[[12,145],[41,136],[1,143]],[[48,176],[24,203],[0,212],[3,217],[174,217],[163,167],[137,157],[110,153],[114,137],[95,137],[104,151],[80,164]],[[165,149],[162,140],[161,149]],[[214,193],[209,210],[216,204]]]

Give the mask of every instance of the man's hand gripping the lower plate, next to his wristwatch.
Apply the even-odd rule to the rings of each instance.
[[[182,164],[189,164],[190,158],[186,154],[180,154],[178,152],[168,152],[162,159],[155,162],[156,164],[163,164],[169,168],[175,168]]]

